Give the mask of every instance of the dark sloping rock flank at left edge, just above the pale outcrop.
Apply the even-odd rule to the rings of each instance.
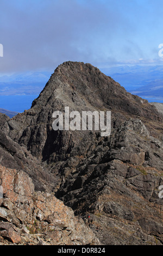
[[[7,115],[0,113],[0,122],[2,127],[0,130],[0,164],[7,168],[26,171],[33,178],[36,190],[51,191],[52,186],[48,181],[53,183],[54,175],[35,156],[30,154],[25,145],[18,144],[8,136],[9,131],[5,131],[5,126],[11,130],[14,127],[11,128],[10,118]]]

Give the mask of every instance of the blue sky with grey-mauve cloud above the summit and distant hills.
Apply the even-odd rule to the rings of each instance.
[[[162,0],[0,0],[0,74],[162,64]]]

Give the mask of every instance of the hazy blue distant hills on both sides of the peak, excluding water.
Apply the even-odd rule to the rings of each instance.
[[[115,66],[100,69],[129,93],[141,97],[161,97],[163,102],[163,66]],[[40,94],[53,71],[26,72],[0,76],[0,95]]]

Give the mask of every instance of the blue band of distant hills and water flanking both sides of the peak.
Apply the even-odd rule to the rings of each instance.
[[[163,103],[163,65],[123,65],[100,68],[100,70],[120,83],[127,92],[147,99],[149,102]],[[52,73],[51,70],[1,75],[0,108],[17,112],[29,109]]]

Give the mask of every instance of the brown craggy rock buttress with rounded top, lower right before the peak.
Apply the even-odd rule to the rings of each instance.
[[[109,141],[99,143],[90,159],[78,164],[57,197],[77,215],[85,218],[91,213],[91,227],[101,230],[97,235],[104,244],[153,244],[157,232],[162,243],[162,156],[162,144],[139,119],[130,119],[111,133]],[[142,216],[146,225],[149,220],[149,225],[159,227],[151,227],[151,235]]]

